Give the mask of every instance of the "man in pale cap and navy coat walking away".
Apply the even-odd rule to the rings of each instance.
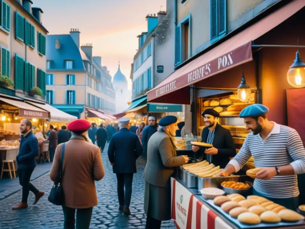
[[[115,133],[108,146],[108,157],[117,175],[119,210],[130,215],[133,174],[137,172],[136,160],[142,154],[142,146],[135,133],[129,131],[129,118],[119,120],[120,131]],[[124,194],[125,185],[125,194]]]

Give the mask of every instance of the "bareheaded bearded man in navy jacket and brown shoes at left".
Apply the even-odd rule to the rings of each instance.
[[[16,162],[18,165],[19,184],[22,186],[22,200],[20,204],[12,207],[13,210],[27,208],[27,198],[30,191],[35,194],[35,201],[33,204],[36,204],[45,194],[30,183],[31,175],[36,167],[36,157],[39,155],[38,140],[31,129],[32,123],[30,120],[21,120],[21,140]]]

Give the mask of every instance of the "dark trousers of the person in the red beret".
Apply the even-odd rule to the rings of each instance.
[[[76,211],[76,229],[89,229],[93,208],[75,209],[63,206],[64,229],[75,228]]]

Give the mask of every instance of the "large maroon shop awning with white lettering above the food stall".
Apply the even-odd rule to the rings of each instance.
[[[186,87],[253,60],[252,41],[284,22],[304,6],[305,0],[294,0],[192,60],[150,90],[147,93],[147,101],[159,103],[177,101],[180,104],[189,104],[190,93],[189,89],[188,91],[185,89]],[[180,89],[185,90],[178,92]],[[176,91],[177,93],[173,93]],[[170,96],[171,100],[164,101],[163,96],[169,93],[173,93]]]

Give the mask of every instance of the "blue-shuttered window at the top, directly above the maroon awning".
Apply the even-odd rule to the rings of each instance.
[[[210,0],[211,43],[227,33],[226,0]]]

